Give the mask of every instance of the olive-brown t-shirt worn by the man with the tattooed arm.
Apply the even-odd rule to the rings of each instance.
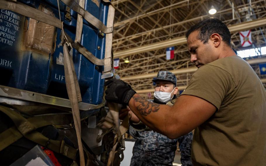
[[[212,103],[217,111],[195,129],[195,165],[265,165],[265,90],[239,56],[203,65],[182,95]]]

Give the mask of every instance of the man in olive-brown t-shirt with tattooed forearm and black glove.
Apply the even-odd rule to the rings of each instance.
[[[232,50],[227,26],[208,18],[186,37],[199,69],[174,106],[148,102],[118,79],[106,82],[106,100],[128,104],[141,122],[170,139],[195,129],[194,166],[266,165],[266,92]]]

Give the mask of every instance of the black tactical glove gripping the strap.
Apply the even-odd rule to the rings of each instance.
[[[129,84],[121,79],[112,78],[106,81],[105,86],[107,86],[105,99],[113,103],[128,105],[129,100],[136,93]]]

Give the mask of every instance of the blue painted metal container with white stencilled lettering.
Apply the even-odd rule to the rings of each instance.
[[[59,18],[55,0],[20,0],[31,7],[44,4]],[[108,4],[99,2],[99,7],[91,0],[85,1],[85,10],[89,11],[105,25],[108,16]],[[71,21],[65,20],[66,6],[60,2],[61,18],[65,32],[74,40],[77,13],[70,11]],[[22,51],[21,40],[23,27],[29,18],[0,9],[0,84],[39,92],[52,96],[68,98],[65,86],[64,66],[59,61],[63,58],[60,45],[61,30],[56,28],[55,50],[43,55],[34,51]],[[105,35],[99,37],[99,30],[83,19],[81,44],[97,58],[104,58]],[[100,46],[101,49],[97,49]],[[99,104],[103,99],[104,79],[101,79],[103,66],[96,66],[75,49],[71,50],[75,71],[80,84],[82,101]],[[97,70],[96,70],[97,69]]]

